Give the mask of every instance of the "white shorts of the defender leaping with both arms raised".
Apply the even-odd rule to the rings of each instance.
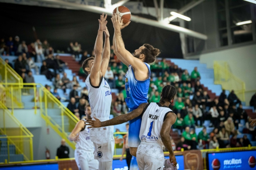
[[[91,128],[89,133],[95,147],[94,158],[100,162],[112,161],[115,148],[114,126]]]

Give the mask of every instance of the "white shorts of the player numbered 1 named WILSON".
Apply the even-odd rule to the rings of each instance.
[[[136,152],[139,170],[163,170],[163,149],[155,145],[140,144]]]

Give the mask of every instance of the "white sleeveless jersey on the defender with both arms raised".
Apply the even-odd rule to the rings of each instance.
[[[95,87],[90,83],[90,74],[85,80],[88,87],[88,96],[91,106],[91,117],[94,116],[101,121],[109,120],[112,95],[108,82],[103,78],[100,80],[100,85]],[[94,118],[93,118],[94,120]]]

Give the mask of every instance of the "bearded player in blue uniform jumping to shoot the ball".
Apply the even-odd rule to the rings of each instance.
[[[123,26],[123,20],[114,14],[111,18],[115,29],[113,37],[114,53],[122,63],[129,66],[125,76],[125,89],[127,98],[125,99],[130,112],[136,109],[141,103],[147,102],[147,93],[150,85],[150,64],[154,63],[160,50],[151,45],[144,44],[135,50],[133,55],[125,49],[121,35],[121,29],[126,27],[130,22]],[[130,153],[136,156],[137,148],[140,145],[140,126],[141,116],[129,121],[129,138],[128,146]]]

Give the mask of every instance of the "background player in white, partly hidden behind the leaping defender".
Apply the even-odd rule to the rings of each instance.
[[[91,107],[87,105],[85,115],[91,120]],[[94,159],[94,144],[90,140],[88,125],[85,119],[76,123],[75,128],[69,135],[69,140],[75,141],[75,162],[79,170],[97,170],[99,161]]]

